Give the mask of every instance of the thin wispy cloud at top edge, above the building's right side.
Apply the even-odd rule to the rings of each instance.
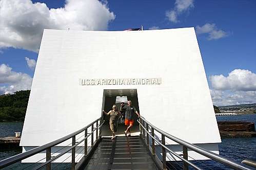
[[[172,10],[166,11],[165,16],[172,22],[179,22],[178,16],[184,12],[188,12],[194,7],[193,0],[176,0],[175,7]]]

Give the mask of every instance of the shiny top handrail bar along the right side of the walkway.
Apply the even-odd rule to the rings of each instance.
[[[141,120],[142,120],[142,121],[141,121]],[[194,152],[196,152],[196,153],[199,153],[199,154],[201,154],[201,155],[203,155],[203,156],[206,156],[206,157],[208,157],[208,158],[210,158],[210,159],[212,159],[212,160],[214,160],[214,161],[217,161],[217,162],[220,162],[220,163],[222,163],[222,164],[224,164],[224,165],[227,165],[227,166],[229,166],[229,167],[231,167],[231,168],[233,168],[233,169],[243,169],[243,170],[245,170],[245,169],[248,169],[248,170],[249,170],[249,169],[250,169],[250,170],[255,169],[255,168],[252,168],[252,167],[250,167],[250,166],[244,165],[244,164],[242,164],[242,163],[235,162],[235,161],[233,161],[233,160],[231,160],[231,159],[228,159],[228,158],[225,158],[225,157],[223,157],[223,156],[220,156],[220,155],[218,155],[218,154],[215,154],[215,153],[213,153],[213,152],[210,152],[210,151],[208,151],[208,150],[205,150],[205,149],[203,149],[203,148],[201,148],[201,147],[198,147],[198,146],[196,146],[196,145],[194,145],[194,144],[192,144],[192,143],[186,142],[186,141],[184,141],[184,140],[182,140],[182,139],[180,139],[180,138],[178,138],[178,137],[172,136],[172,135],[170,135],[170,134],[168,134],[168,133],[162,131],[161,129],[155,127],[154,125],[150,124],[150,123],[149,123],[144,117],[142,117],[142,116],[140,116],[140,119],[137,120],[137,122],[139,122],[141,128],[143,128],[143,132],[146,131],[147,134],[149,134],[149,135],[150,135],[150,132],[149,132],[148,130],[146,130],[144,123],[141,123],[141,122],[145,122],[145,123],[147,124],[146,127],[150,126],[150,127],[151,127],[151,131],[152,131],[152,130],[156,130],[157,132],[159,132],[160,134],[162,134],[162,137],[165,137],[165,136],[166,136],[166,137],[168,137],[169,139],[171,139],[171,140],[173,140],[173,141],[175,141],[175,142],[177,142],[177,143],[183,145],[183,148],[185,147],[185,149],[190,149],[190,150],[192,150],[192,151],[194,151]],[[143,136],[144,136],[144,138],[145,138],[145,133],[143,133]],[[156,139],[154,136],[152,136],[152,135],[150,135],[150,136],[152,137],[152,139],[154,138],[154,141],[157,142],[157,139]],[[147,139],[148,139],[148,137],[147,137]],[[162,140],[163,140],[163,139],[162,139]],[[152,141],[153,141],[153,140],[152,140]],[[147,141],[147,142],[148,142],[148,141]],[[162,145],[162,147],[164,147],[166,150],[170,151],[170,149],[167,148],[164,144],[161,143],[161,145]],[[153,148],[153,147],[154,147],[154,142],[152,142],[152,148]],[[183,152],[184,152],[184,151],[183,151]],[[173,153],[173,151],[172,151],[172,153]],[[164,156],[164,154],[163,154],[163,156]],[[185,156],[185,155],[184,155],[184,156]],[[164,159],[165,159],[165,158],[164,158]],[[182,159],[182,160],[183,160],[183,159]],[[184,161],[184,160],[183,160],[183,161]],[[185,163],[188,163],[188,162],[185,161],[185,162],[184,162],[184,165],[185,165]],[[163,164],[164,164],[164,163],[163,163]],[[189,164],[190,164],[190,163],[189,163]],[[194,167],[194,166],[193,166],[193,167]],[[184,169],[185,169],[185,168],[184,168]]]

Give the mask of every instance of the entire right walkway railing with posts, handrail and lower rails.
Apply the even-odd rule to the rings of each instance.
[[[153,126],[152,124],[150,124],[144,117],[140,117],[140,119],[137,120],[137,122],[139,122],[140,124],[140,129],[141,129],[141,134],[143,135],[143,139],[146,140],[146,144],[147,147],[150,148],[150,152],[152,155],[155,155],[155,142],[157,143],[157,145],[161,145],[162,146],[162,164],[160,166],[163,167],[163,169],[166,169],[166,150],[169,151],[171,154],[175,155],[176,157],[178,157],[179,159],[181,159],[183,161],[184,164],[184,169],[188,169],[188,165],[192,166],[195,169],[201,169],[200,167],[196,166],[195,164],[191,163],[188,160],[188,149],[199,153],[205,157],[210,158],[211,160],[214,160],[216,162],[219,162],[221,164],[224,164],[226,166],[229,166],[233,169],[255,169],[253,167],[247,166],[245,164],[239,163],[239,162],[235,162],[231,159],[225,158],[223,156],[220,156],[218,154],[215,154],[213,152],[210,152],[208,150],[205,150],[201,147],[198,147],[194,144],[191,144],[189,142],[186,142],[182,139],[179,139],[175,136],[172,136],[164,131],[162,131],[159,128],[156,128],[155,126]],[[149,132],[149,129],[151,129],[151,132]],[[160,133],[162,135],[162,140],[159,141],[159,139],[157,139],[155,137],[155,131],[157,131],[158,133]],[[151,143],[149,143],[149,136],[151,137]],[[165,144],[165,138],[169,138],[173,141],[175,141],[176,143],[179,143],[180,145],[183,146],[183,156],[176,154],[174,151],[170,150],[166,144]]]

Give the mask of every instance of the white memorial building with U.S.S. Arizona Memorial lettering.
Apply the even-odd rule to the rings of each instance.
[[[221,138],[194,28],[44,30],[23,151],[82,129],[103,109],[109,111],[116,96],[127,96],[163,131],[219,153]]]

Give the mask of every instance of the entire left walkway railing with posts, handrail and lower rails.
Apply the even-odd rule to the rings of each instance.
[[[99,122],[100,122],[100,125],[99,125]],[[15,155],[13,157],[10,157],[10,158],[7,158],[7,159],[4,159],[2,161],[0,161],[0,169],[1,168],[4,168],[6,166],[9,166],[13,163],[16,163],[18,161],[21,161],[23,159],[26,159],[30,156],[33,156],[35,154],[38,154],[38,153],[41,153],[43,151],[46,151],[46,162],[36,166],[35,168],[33,169],[40,169],[44,166],[46,166],[46,170],[49,170],[51,169],[51,162],[54,161],[55,159],[65,155],[67,152],[69,152],[71,150],[71,169],[74,170],[75,169],[75,147],[82,143],[83,141],[85,141],[85,153],[84,155],[86,156],[88,153],[87,153],[87,145],[88,145],[88,141],[87,141],[87,138],[89,136],[91,136],[91,147],[94,147],[94,145],[96,144],[97,141],[99,141],[99,137],[101,137],[101,127],[102,125],[104,124],[105,120],[102,121],[102,117],[94,120],[94,122],[90,123],[89,125],[87,125],[86,127],[74,132],[74,133],[71,133],[65,137],[62,137],[60,139],[57,139],[57,140],[54,140],[50,143],[47,143],[47,144],[44,144],[42,145],[41,147],[37,147],[37,148],[34,148],[32,150],[29,150],[27,152],[24,152],[24,153],[21,153],[21,154],[18,154],[18,155]],[[94,124],[96,124],[96,126],[94,127]],[[87,133],[88,132],[88,129],[91,128],[91,133]],[[99,130],[100,130],[100,133],[99,133]],[[76,142],[75,141],[75,136],[77,134],[80,134],[82,132],[85,132],[85,138],[83,138],[82,140],[80,140],[79,142]],[[94,133],[96,135],[96,138],[94,139]],[[67,150],[63,151],[62,153],[54,156],[53,158],[51,158],[51,148],[56,146],[57,144],[60,144],[68,139],[71,139],[72,138],[72,146],[69,147]]]

